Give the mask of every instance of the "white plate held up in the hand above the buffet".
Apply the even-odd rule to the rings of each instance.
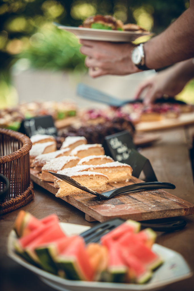
[[[63,26],[54,22],[58,28],[72,32],[79,39],[103,40],[111,42],[130,42],[145,35],[152,35],[150,32],[138,33],[135,31],[118,31],[108,29],[94,29],[85,27]]]

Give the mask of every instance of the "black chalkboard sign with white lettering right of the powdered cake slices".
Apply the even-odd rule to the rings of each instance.
[[[105,136],[103,147],[106,155],[111,156],[115,161],[127,164],[131,149],[136,149],[128,130]]]

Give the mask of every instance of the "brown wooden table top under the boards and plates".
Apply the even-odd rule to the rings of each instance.
[[[160,132],[161,140],[141,153],[147,157],[161,182],[171,182],[175,190],[168,190],[184,200],[194,203],[194,185],[188,145],[183,128]],[[140,176],[143,179],[143,175]],[[35,199],[22,207],[37,218],[56,213],[61,222],[93,226],[85,215],[72,205],[34,184]],[[13,228],[19,210],[0,217],[0,290],[2,291],[53,291],[37,276],[6,256],[6,239]],[[177,218],[180,219],[181,217]],[[194,215],[183,217],[186,227],[174,233],[158,233],[157,243],[181,253],[194,270]],[[172,219],[165,219],[172,220]],[[193,291],[194,276],[168,285],[164,291]],[[91,290],[92,291],[92,290]]]

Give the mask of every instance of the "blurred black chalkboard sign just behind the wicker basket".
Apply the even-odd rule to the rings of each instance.
[[[50,115],[24,119],[21,123],[19,132],[29,137],[35,134],[57,135],[57,129]]]

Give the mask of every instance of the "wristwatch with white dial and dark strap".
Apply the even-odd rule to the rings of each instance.
[[[143,43],[138,45],[138,47],[134,47],[134,49],[131,51],[131,61],[140,70],[143,70],[143,71],[150,70],[145,65],[145,55],[144,55],[144,50],[143,50]]]

